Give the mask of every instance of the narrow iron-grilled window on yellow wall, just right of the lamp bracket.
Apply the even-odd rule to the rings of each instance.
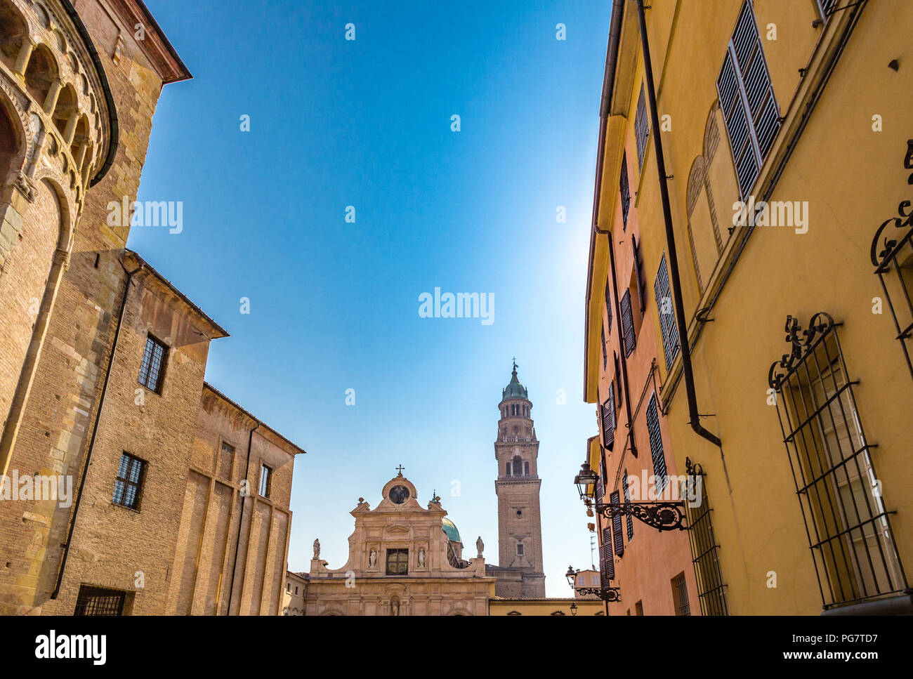
[[[682,483],[681,496],[686,497],[688,544],[691,563],[698,583],[698,602],[701,615],[729,615],[726,605],[726,584],[719,567],[719,545],[713,532],[711,507],[707,498],[707,484],[700,465],[686,461],[687,486]],[[693,498],[693,501],[692,501]],[[686,594],[687,596],[687,594]]]

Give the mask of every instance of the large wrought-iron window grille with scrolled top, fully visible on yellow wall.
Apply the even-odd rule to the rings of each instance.
[[[786,320],[792,351],[771,365],[777,414],[824,609],[908,589],[856,408],[837,324]]]

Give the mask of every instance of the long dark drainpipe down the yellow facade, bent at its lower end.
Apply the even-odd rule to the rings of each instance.
[[[640,44],[644,49],[644,70],[646,92],[650,99],[650,121],[653,127],[653,145],[656,148],[656,171],[659,173],[659,193],[663,203],[663,218],[666,222],[666,254],[669,257],[669,279],[672,284],[672,296],[676,308],[676,323],[678,326],[678,350],[682,354],[682,373],[685,377],[685,391],[687,393],[688,423],[695,434],[707,439],[711,444],[722,447],[719,436],[712,434],[700,423],[698,414],[698,395],[694,387],[694,372],[691,367],[691,346],[687,339],[687,326],[685,325],[685,310],[682,304],[681,279],[678,277],[678,255],[676,251],[676,235],[672,228],[672,209],[669,206],[669,187],[666,183],[666,161],[663,158],[663,142],[660,139],[659,113],[656,111],[656,89],[653,83],[653,65],[650,61],[650,45],[646,36],[646,19],[644,16],[644,0],[635,0],[637,3],[637,23],[640,26]]]

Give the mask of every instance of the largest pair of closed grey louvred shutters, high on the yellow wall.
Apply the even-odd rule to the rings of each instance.
[[[740,195],[747,200],[781,125],[751,0],[741,7],[717,78],[717,93]]]

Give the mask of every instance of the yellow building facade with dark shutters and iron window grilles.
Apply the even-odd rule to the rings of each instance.
[[[584,398],[627,211],[700,611],[913,611],[913,4],[643,5],[613,5]]]

